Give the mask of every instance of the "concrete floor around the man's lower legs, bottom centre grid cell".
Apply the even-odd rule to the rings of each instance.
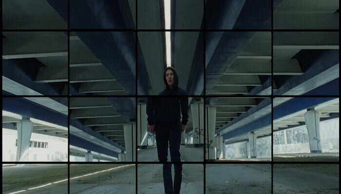
[[[138,194],[163,194],[162,164],[139,164],[137,172]],[[183,164],[180,194],[204,194],[204,165]],[[173,167],[172,177],[174,178]]]

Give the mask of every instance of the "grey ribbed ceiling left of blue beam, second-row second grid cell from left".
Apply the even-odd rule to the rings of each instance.
[[[79,33],[91,32],[77,34]],[[100,45],[99,49],[106,49],[106,45]],[[70,36],[70,84],[84,95],[128,95],[76,33]]]

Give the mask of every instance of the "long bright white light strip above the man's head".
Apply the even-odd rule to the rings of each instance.
[[[165,29],[170,29],[170,0],[164,0],[164,10],[165,10]],[[167,67],[171,66],[171,42],[170,42],[170,32],[165,32],[166,40],[166,63]]]

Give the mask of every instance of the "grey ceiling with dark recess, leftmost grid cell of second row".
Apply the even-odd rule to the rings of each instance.
[[[10,89],[12,84],[8,86],[9,89],[3,87],[3,90],[15,95],[27,95],[27,92],[19,92],[22,87],[27,86],[43,95],[68,93],[66,33],[2,32],[2,35],[3,77],[21,85],[17,88],[18,92],[12,92]],[[3,84],[6,83],[8,84],[8,82]],[[45,90],[42,92],[39,87]],[[48,88],[53,92],[46,91]]]

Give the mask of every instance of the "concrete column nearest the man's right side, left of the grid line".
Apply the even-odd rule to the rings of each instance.
[[[194,102],[190,104],[193,122],[193,144],[204,143],[204,103]]]

